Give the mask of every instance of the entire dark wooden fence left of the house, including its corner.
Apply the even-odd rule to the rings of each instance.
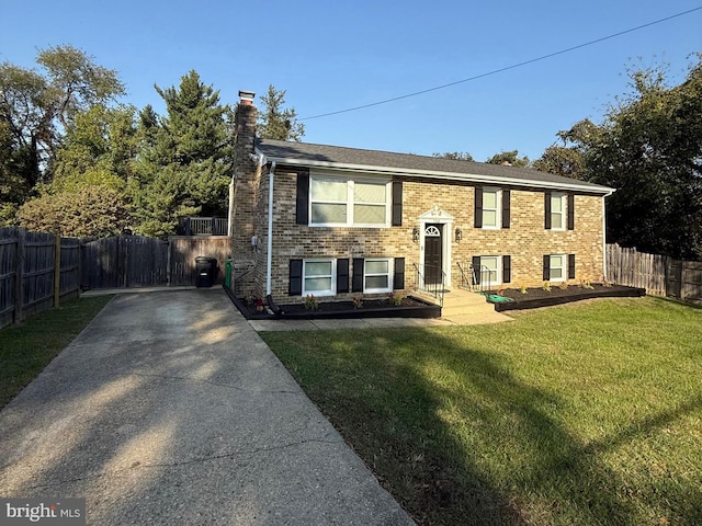
[[[217,260],[214,283],[222,283],[230,253],[228,237],[80,240],[0,228],[0,328],[58,306],[81,288],[193,286],[200,255]]]

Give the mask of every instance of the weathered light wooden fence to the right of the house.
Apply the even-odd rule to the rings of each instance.
[[[702,301],[702,262],[647,254],[619,244],[607,245],[608,279],[645,288],[653,296]]]

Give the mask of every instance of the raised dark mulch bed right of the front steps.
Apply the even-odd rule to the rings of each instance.
[[[519,288],[505,288],[501,296],[508,297],[511,301],[488,301],[495,304],[495,310],[502,312],[505,310],[535,309],[539,307],[550,307],[553,305],[563,305],[570,301],[579,301],[590,298],[625,298],[641,297],[646,295],[645,288],[624,287],[622,285],[592,284],[592,288],[570,285],[567,288],[561,288],[552,285],[551,290],[543,288],[528,288],[526,294],[522,294]],[[490,294],[495,294],[494,291]]]

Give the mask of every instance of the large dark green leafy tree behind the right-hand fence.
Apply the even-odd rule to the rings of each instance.
[[[630,72],[633,91],[596,126],[564,137],[584,152],[586,179],[616,188],[608,241],[702,259],[702,60],[679,85],[661,68]]]

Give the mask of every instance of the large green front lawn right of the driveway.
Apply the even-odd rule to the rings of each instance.
[[[262,336],[420,524],[702,524],[702,309]]]

